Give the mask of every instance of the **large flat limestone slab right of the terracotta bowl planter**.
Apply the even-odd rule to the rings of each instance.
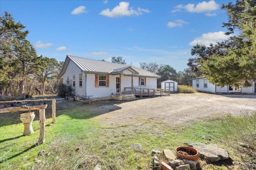
[[[189,147],[193,147],[199,152],[201,158],[206,158],[210,162],[217,162],[218,160],[228,159],[228,150],[218,148],[214,145],[207,145],[205,143],[191,143]]]

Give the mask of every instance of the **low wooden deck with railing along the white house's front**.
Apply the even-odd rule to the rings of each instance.
[[[134,94],[135,96],[170,96],[169,89],[161,89],[161,88],[131,88],[125,87],[124,90],[126,93]]]

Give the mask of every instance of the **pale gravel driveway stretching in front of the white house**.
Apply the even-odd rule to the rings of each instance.
[[[256,111],[256,95],[173,94],[116,103],[105,102],[91,111],[98,114],[102,125],[107,126],[140,125],[145,121],[176,125]]]

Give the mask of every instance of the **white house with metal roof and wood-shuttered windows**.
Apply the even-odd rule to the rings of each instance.
[[[58,75],[60,83],[72,82],[75,96],[92,95],[91,98],[120,94],[125,87],[157,88],[157,78],[160,76],[136,66],[70,55]]]

